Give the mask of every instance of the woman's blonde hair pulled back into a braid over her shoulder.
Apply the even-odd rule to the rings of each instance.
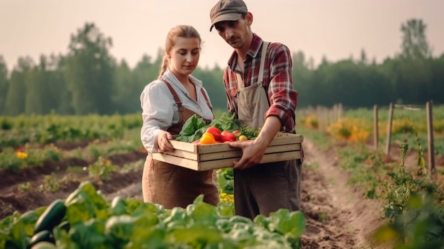
[[[201,35],[199,32],[196,31],[196,28],[189,25],[179,25],[174,26],[170,29],[167,35],[167,39],[165,40],[165,55],[163,56],[162,60],[162,67],[160,67],[160,74],[159,77],[162,77],[162,75],[165,73],[165,71],[168,68],[169,58],[168,53],[170,52],[172,46],[176,44],[176,38],[182,37],[182,38],[198,38],[199,39],[199,47],[202,42]]]

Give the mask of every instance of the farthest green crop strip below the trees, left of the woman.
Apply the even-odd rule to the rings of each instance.
[[[142,126],[140,114],[113,116],[0,116],[0,148],[26,143],[75,142],[118,138]]]

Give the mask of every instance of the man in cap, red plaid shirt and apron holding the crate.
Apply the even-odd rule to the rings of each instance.
[[[301,160],[258,164],[277,132],[295,133],[298,93],[293,89],[292,58],[282,43],[265,43],[252,33],[243,0],[219,0],[210,11],[211,28],[233,54],[223,74],[228,112],[241,123],[260,128],[255,140],[230,143],[243,156],[233,162],[235,214],[254,219],[277,209],[301,206]]]

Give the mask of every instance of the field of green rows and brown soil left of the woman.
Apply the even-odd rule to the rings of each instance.
[[[138,137],[139,119],[4,118],[0,131],[0,217],[66,198],[84,181],[93,182],[106,199],[137,186],[146,157]]]

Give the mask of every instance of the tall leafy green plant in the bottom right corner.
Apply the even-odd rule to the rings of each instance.
[[[374,239],[392,240],[394,248],[444,248],[444,206],[435,198],[439,189],[428,181],[423,166],[415,175],[406,172],[409,145],[401,143],[399,148],[401,167],[398,172],[389,172],[393,182],[385,185],[384,218],[389,218],[389,223],[374,233]]]

